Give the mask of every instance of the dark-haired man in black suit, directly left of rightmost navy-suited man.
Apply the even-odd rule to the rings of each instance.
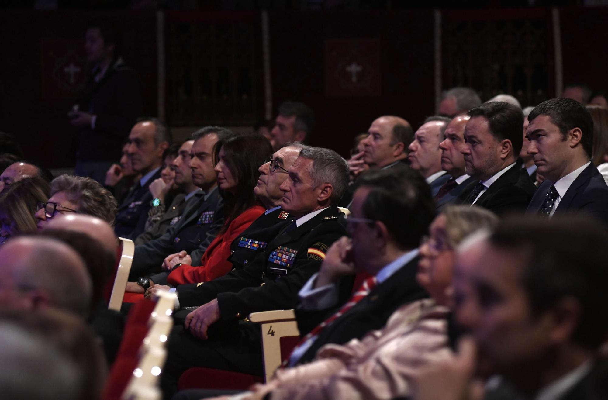
[[[474,204],[498,216],[523,212],[536,187],[517,159],[522,147],[522,110],[504,102],[469,111],[465,126],[465,171],[475,178],[455,204]]]

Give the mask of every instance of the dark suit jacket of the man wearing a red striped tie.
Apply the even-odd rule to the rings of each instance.
[[[342,316],[334,320],[331,325],[326,326],[319,332],[319,336],[300,357],[297,364],[314,359],[317,350],[328,343],[343,344],[353,338],[361,339],[372,329],[381,329],[386,325],[390,315],[401,305],[428,297],[427,292],[418,284],[416,273],[418,272],[419,257],[415,257],[404,266],[390,275],[387,280],[378,284],[366,297],[348,309]],[[332,310],[332,314],[333,314]],[[314,312],[314,311],[313,311]],[[302,322],[312,320],[308,314],[311,311],[302,309],[295,310],[295,318],[298,321],[300,333],[306,333],[311,327]],[[300,322],[302,321],[302,322]],[[314,327],[313,327],[314,328]]]

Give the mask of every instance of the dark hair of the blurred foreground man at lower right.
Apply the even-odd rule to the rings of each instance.
[[[581,305],[573,334],[578,345],[596,349],[608,333],[608,233],[581,216],[506,221],[489,237],[492,246],[526,257],[522,274],[530,308],[539,316],[564,297]]]

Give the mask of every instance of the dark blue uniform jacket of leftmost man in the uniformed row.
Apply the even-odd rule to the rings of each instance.
[[[143,233],[152,202],[152,193],[149,190],[150,184],[157,178],[161,178],[161,168],[158,168],[156,173],[143,186],[141,182],[137,181],[131,188],[130,193],[116,210],[116,222],[114,224],[116,236],[134,240]]]

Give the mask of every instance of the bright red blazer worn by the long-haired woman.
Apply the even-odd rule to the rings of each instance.
[[[230,222],[226,232],[216,236],[209,244],[202,255],[201,266],[182,265],[174,269],[167,277],[168,283],[177,286],[178,284],[207,282],[226,275],[232,269],[232,263],[227,260],[230,257],[230,244],[265,211],[266,209],[261,205],[254,205],[244,210]]]

